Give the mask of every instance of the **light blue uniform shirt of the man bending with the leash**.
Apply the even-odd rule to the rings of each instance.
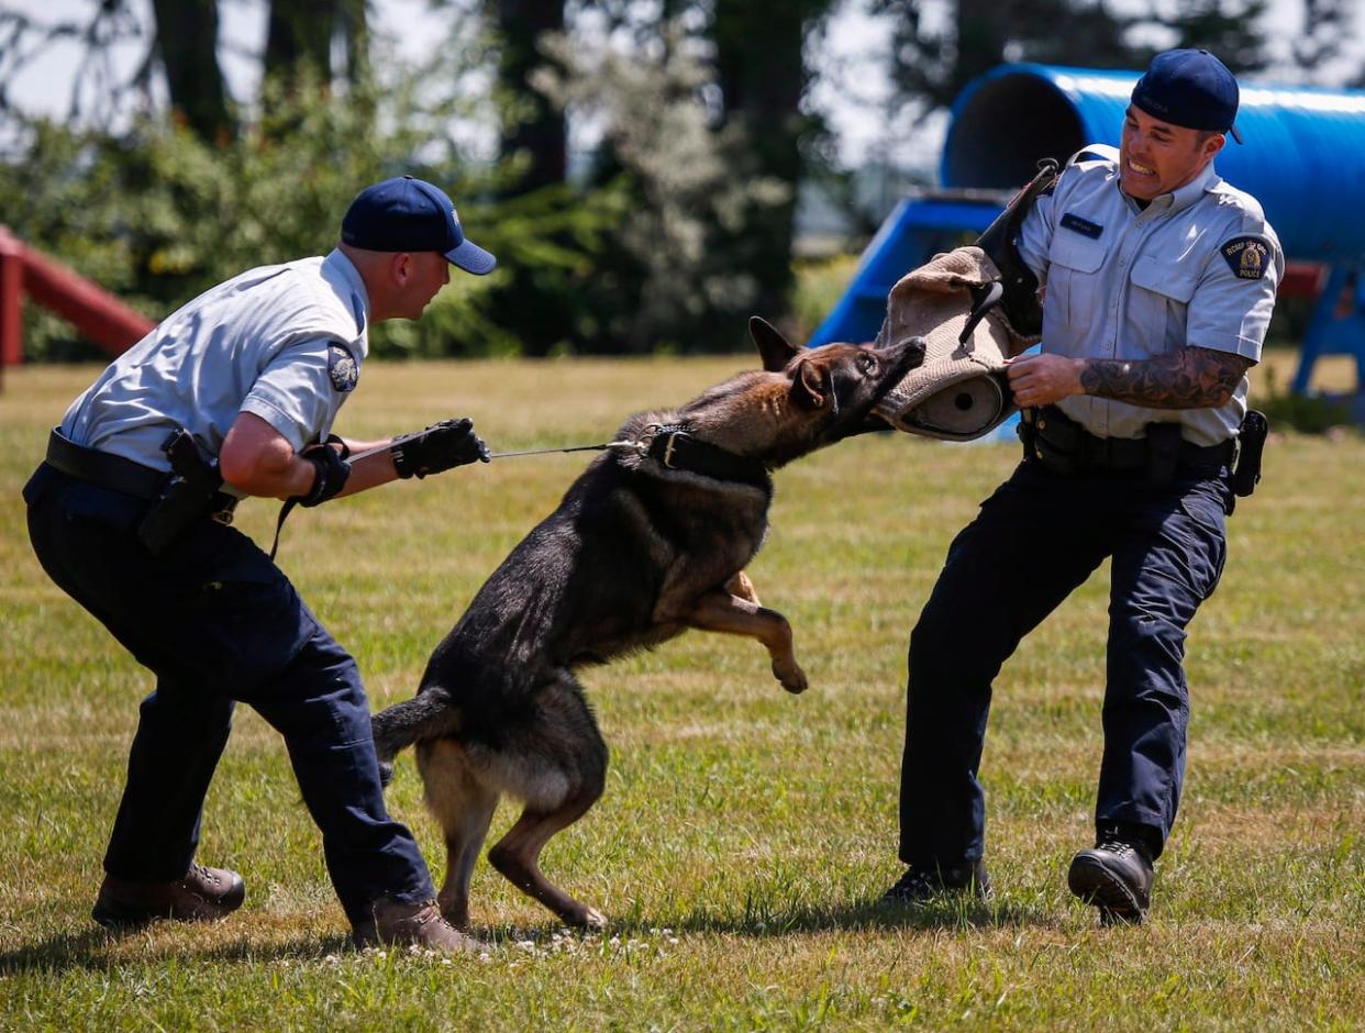
[[[370,302],[340,251],[250,269],[167,317],[76,398],[78,445],[169,469],[176,427],[214,456],[251,412],[302,450],[332,433],[369,351]]]

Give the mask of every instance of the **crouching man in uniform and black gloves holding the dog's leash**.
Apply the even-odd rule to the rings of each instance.
[[[475,946],[441,920],[416,843],[385,811],[355,662],[228,525],[247,495],[313,506],[487,461],[467,419],[392,442],[332,434],[370,325],[419,318],[452,263],[483,274],[494,258],[464,237],[450,199],[410,176],[374,184],[326,258],[253,269],[194,299],[53,431],[23,493],[34,551],[157,677],[104,858],[100,924],[214,920],[242,905],[239,875],[195,862],[240,700],[284,736],[356,942]],[[168,453],[171,439],[191,459]]]

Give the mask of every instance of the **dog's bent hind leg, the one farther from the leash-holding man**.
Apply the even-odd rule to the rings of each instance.
[[[577,821],[606,787],[606,744],[577,682],[568,674],[536,695],[538,714],[516,751],[498,767],[517,771],[504,787],[526,800],[526,811],[489,852],[489,862],[568,925],[601,929],[606,917],[554,886],[541,871],[541,852],[556,832]]]

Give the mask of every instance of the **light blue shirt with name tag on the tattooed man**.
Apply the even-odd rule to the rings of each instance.
[[[1118,151],[1107,146],[1080,151],[1039,198],[1020,254],[1046,285],[1043,351],[1076,359],[1143,360],[1193,347],[1259,362],[1284,273],[1260,203],[1212,162],[1140,209],[1119,190]],[[1244,377],[1216,409],[1148,409],[1088,394],[1058,405],[1104,438],[1140,438],[1148,423],[1178,422],[1186,441],[1216,445],[1237,435],[1246,388]]]

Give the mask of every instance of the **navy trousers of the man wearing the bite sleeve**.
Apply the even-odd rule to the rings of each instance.
[[[1111,558],[1096,824],[1175,821],[1189,693],[1185,628],[1226,557],[1227,469],[1061,475],[1024,461],[953,540],[910,636],[901,847],[934,869],[981,857],[977,768],[991,684],[1020,640]]]

